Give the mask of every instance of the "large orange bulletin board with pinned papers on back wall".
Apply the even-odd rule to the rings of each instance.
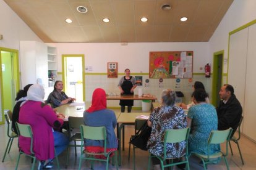
[[[193,51],[150,52],[150,78],[192,78]]]

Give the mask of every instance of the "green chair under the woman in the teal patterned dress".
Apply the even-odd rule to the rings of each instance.
[[[201,158],[203,162],[203,168],[207,169],[207,164],[213,163],[216,161],[216,158],[223,158],[227,168],[229,169],[228,161],[226,159],[226,156],[228,156],[228,141],[230,139],[230,136],[232,134],[233,129],[229,128],[224,131],[211,131],[210,136],[208,138],[208,153],[200,154],[200,153],[193,153],[193,155],[197,156],[198,158]],[[226,153],[223,152],[217,152],[210,154],[210,145],[211,144],[222,144],[226,142]]]

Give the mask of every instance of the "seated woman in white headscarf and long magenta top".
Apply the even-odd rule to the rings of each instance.
[[[63,124],[63,116],[56,116],[53,109],[43,101],[45,90],[40,84],[33,84],[27,92],[27,101],[20,107],[19,123],[30,124],[33,132],[33,150],[38,169],[53,166],[54,147],[56,154],[63,152],[69,145],[69,138],[61,132],[53,131]],[[19,137],[19,145],[23,152],[30,154],[30,139]],[[46,163],[45,161],[49,161]]]

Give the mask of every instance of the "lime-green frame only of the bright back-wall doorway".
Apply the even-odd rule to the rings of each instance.
[[[66,65],[66,62],[65,62],[65,59],[66,57],[82,57],[82,70],[83,70],[83,73],[82,73],[82,76],[83,76],[83,101],[85,102],[85,55],[84,54],[62,54],[62,83],[64,85],[64,91],[65,91],[65,88],[66,88],[66,76],[67,76],[67,73],[66,73],[66,68],[67,68],[67,65]]]

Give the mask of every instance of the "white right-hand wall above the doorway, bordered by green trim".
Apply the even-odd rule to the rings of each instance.
[[[209,41],[211,60],[214,52],[224,50],[224,59],[228,58],[229,32],[256,19],[255,0],[234,0],[221,20]],[[224,73],[227,73],[227,65],[223,65]]]

